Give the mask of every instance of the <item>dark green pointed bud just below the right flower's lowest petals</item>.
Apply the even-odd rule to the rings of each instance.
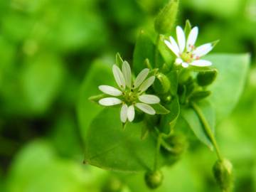
[[[217,70],[207,70],[207,71],[202,71],[198,73],[196,80],[198,82],[198,85],[200,86],[207,86],[213,83],[213,81],[217,77]]]

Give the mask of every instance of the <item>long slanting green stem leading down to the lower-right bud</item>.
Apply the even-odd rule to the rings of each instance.
[[[201,120],[201,123],[203,124],[203,127],[204,127],[204,129],[206,131],[206,134],[208,135],[210,141],[213,143],[213,146],[215,148],[215,151],[216,151],[216,154],[218,156],[218,159],[220,161],[222,161],[223,157],[220,154],[220,149],[218,148],[218,144],[217,144],[216,139],[215,139],[215,137],[213,135],[213,132],[210,129],[210,125],[208,124],[208,121],[207,121],[206,117],[204,116],[204,114],[201,111],[200,107],[198,107],[198,105],[196,105],[195,102],[191,102],[191,106],[193,107],[193,109],[198,114],[198,117]]]

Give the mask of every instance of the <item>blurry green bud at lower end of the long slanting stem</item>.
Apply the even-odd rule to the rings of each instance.
[[[215,180],[221,190],[229,192],[233,188],[233,166],[228,159],[218,160],[213,166]]]

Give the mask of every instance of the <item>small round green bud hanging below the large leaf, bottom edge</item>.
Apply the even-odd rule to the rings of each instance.
[[[144,178],[145,178],[146,186],[153,189],[161,186],[164,176],[161,173],[161,171],[149,171],[149,172],[146,172]]]

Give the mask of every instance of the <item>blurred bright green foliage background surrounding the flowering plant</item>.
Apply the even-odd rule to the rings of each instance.
[[[149,191],[143,174],[83,165],[76,106],[91,65],[128,61],[164,0],[0,1],[0,191]],[[214,52],[250,53],[245,92],[216,137],[235,167],[235,191],[256,191],[256,1],[181,0],[177,24],[200,27]],[[232,93],[230,93],[232,94]],[[91,110],[91,109],[88,109]],[[215,156],[195,142],[164,168],[156,191],[219,191]]]

